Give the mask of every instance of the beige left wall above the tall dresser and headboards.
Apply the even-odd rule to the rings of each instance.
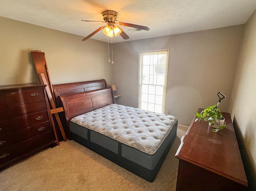
[[[0,17],[0,85],[38,82],[30,51],[45,52],[52,84],[106,79],[108,45],[97,40]]]

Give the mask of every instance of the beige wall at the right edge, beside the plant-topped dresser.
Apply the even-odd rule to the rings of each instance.
[[[256,189],[256,10],[247,21],[236,78],[230,100],[230,112],[240,130],[254,169]],[[250,177],[249,177],[250,178]]]

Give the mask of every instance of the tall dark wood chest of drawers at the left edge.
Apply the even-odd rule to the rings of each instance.
[[[45,85],[0,86],[0,170],[49,145],[54,146]]]

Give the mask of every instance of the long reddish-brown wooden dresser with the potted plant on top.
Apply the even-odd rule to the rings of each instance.
[[[202,109],[198,109],[201,112]],[[212,132],[193,119],[175,155],[179,159],[176,191],[244,191],[248,182],[229,113],[226,129]]]

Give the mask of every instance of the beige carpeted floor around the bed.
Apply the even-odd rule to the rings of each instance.
[[[178,159],[174,157],[188,127],[177,137],[153,183],[74,142],[60,142],[0,171],[0,191],[175,191]]]

